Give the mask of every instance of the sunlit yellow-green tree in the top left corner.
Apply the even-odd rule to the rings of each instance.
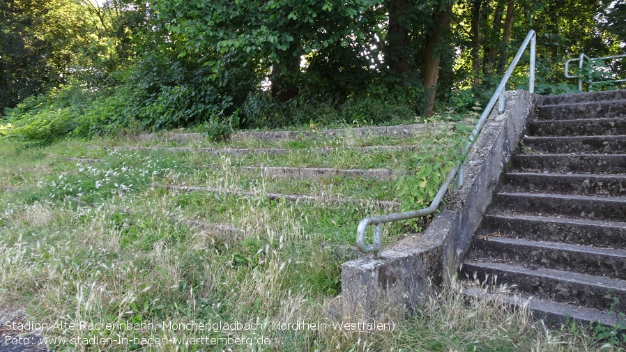
[[[0,107],[66,82],[90,40],[83,10],[73,0],[0,3]]]

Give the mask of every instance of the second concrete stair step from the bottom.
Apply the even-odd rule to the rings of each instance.
[[[618,298],[615,309],[626,312],[626,281],[609,277],[570,273],[563,270],[525,268],[509,263],[466,261],[462,268],[468,277],[488,284],[515,285],[514,289],[544,300],[608,310],[613,303],[607,293]]]

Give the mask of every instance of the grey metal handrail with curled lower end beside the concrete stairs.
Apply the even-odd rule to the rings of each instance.
[[[406,211],[404,213],[393,213],[393,214],[388,214],[388,215],[377,215],[377,216],[365,217],[365,219],[359,222],[358,229],[356,231],[356,243],[357,243],[358,250],[360,250],[363,253],[372,253],[372,257],[374,257],[374,259],[381,259],[381,252],[382,252],[382,247],[383,247],[382,245],[383,224],[387,222],[396,222],[396,221],[401,221],[401,220],[413,219],[415,217],[420,217],[420,216],[430,215],[430,214],[435,213],[437,211],[437,208],[439,207],[439,204],[441,204],[441,200],[443,199],[445,192],[448,191],[448,186],[450,186],[452,179],[455,178],[455,176],[457,176],[457,171],[459,171],[459,178],[458,178],[459,188],[462,187],[463,181],[464,181],[463,180],[464,163],[462,162],[462,160],[465,158],[469,149],[478,138],[478,134],[480,133],[480,130],[482,130],[482,126],[484,125],[485,121],[487,121],[487,117],[489,117],[489,114],[491,114],[491,110],[493,110],[494,107],[496,106],[496,100],[498,100],[498,112],[500,113],[504,112],[504,91],[505,91],[506,84],[508,80],[510,79],[514,68],[517,66],[517,63],[519,62],[521,55],[524,54],[524,50],[526,49],[526,47],[528,47],[528,43],[530,43],[530,68],[529,68],[530,74],[528,78],[528,91],[530,91],[530,93],[534,93],[535,91],[536,41],[537,41],[537,35],[535,31],[531,29],[528,32],[528,35],[526,35],[526,38],[524,39],[524,43],[521,44],[521,47],[519,48],[519,50],[517,51],[517,54],[513,58],[513,61],[511,62],[511,65],[509,66],[507,72],[505,72],[504,77],[502,77],[502,80],[500,84],[498,85],[498,88],[496,88],[494,95],[489,100],[487,107],[485,107],[484,112],[482,113],[482,115],[480,115],[480,118],[478,119],[478,123],[476,123],[474,129],[471,132],[468,144],[466,145],[465,150],[461,154],[461,158],[457,160],[456,165],[452,167],[452,169],[450,169],[450,172],[448,172],[448,176],[445,176],[445,181],[443,181],[441,188],[439,188],[435,196],[435,199],[433,199],[430,206],[428,206],[428,208],[423,208],[418,211]],[[370,245],[365,243],[365,232],[367,231],[367,227],[369,225],[376,225],[374,227],[374,236],[372,237],[372,244]]]

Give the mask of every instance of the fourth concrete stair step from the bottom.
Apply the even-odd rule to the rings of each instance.
[[[626,222],[491,212],[484,217],[477,235],[494,233],[508,238],[626,250]]]

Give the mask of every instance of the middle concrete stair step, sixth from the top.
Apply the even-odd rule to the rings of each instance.
[[[504,192],[626,197],[626,175],[507,172],[503,176],[501,190]]]

